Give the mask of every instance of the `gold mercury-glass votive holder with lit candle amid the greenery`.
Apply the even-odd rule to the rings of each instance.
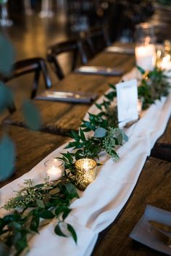
[[[75,162],[76,186],[78,189],[86,189],[95,180],[96,166],[96,161],[89,158],[83,158]]]

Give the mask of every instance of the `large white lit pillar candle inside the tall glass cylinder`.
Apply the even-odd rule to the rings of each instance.
[[[135,46],[136,65],[143,70],[153,70],[156,65],[156,49],[154,44]]]

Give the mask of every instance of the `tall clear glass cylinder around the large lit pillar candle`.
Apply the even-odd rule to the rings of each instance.
[[[141,23],[135,28],[135,60],[143,70],[153,70],[156,65],[154,27]]]

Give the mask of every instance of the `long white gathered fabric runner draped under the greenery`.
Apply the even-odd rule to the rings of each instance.
[[[133,73],[130,74],[128,77],[133,78]],[[126,78],[125,76],[124,79]],[[103,96],[98,102],[102,99]],[[157,100],[143,112],[141,120],[125,130],[129,140],[117,150],[120,155],[118,162],[113,162],[106,154],[101,155],[100,162],[104,165],[98,168],[96,180],[85,191],[80,192],[80,199],[72,202],[72,212],[66,219],[66,222],[71,223],[75,228],[78,244],[76,245],[71,237],[54,234],[54,225],[57,220],[53,220],[41,230],[40,234],[36,234],[30,240],[28,256],[56,256],[57,253],[62,256],[91,255],[99,232],[114,221],[128,201],[146,157],[149,156],[155,141],[164,133],[170,118],[170,102],[171,95],[167,98],[163,97],[161,101]],[[98,110],[92,106],[88,112],[96,114]],[[13,191],[18,190],[18,184],[22,184],[25,179],[33,178],[36,183],[43,181],[43,163],[49,158],[59,157],[60,152],[64,152],[64,145],[54,150],[29,173],[4,186],[0,190],[1,206],[7,199],[14,196]],[[4,213],[4,210],[0,211],[1,215]]]

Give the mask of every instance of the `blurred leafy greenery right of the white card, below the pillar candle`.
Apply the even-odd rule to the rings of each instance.
[[[138,97],[143,99],[143,110],[146,110],[156,99],[167,96],[170,92],[170,83],[164,70],[155,67],[154,70],[146,73],[141,67],[138,70],[143,75],[141,85],[138,87]]]

